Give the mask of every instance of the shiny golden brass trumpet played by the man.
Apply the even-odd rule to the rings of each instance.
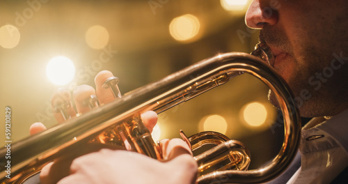
[[[122,145],[125,140],[120,138],[119,132],[122,132],[133,151],[161,159],[158,146],[143,125],[139,114],[149,110],[161,113],[244,72],[262,80],[274,91],[283,112],[285,135],[283,146],[276,158],[265,167],[246,171],[250,156],[239,141],[229,140],[228,137],[214,132],[202,132],[184,139],[193,149],[205,143],[217,145],[195,157],[200,173],[198,183],[269,181],[278,176],[294,158],[301,131],[299,113],[290,88],[274,69],[267,65],[273,60],[269,48],[263,43],[258,44],[251,54],[219,54],[168,75],[159,82],[143,86],[109,104],[92,109],[86,114],[71,118],[67,123],[18,141],[10,148],[11,177],[6,177],[7,168],[1,167],[0,183],[25,183],[28,178],[38,174],[47,162],[64,156],[63,153],[81,143],[102,139],[103,142]],[[6,166],[8,162],[6,152],[7,148],[0,150],[1,166]],[[212,170],[214,165],[220,165],[225,160],[230,162],[222,168]]]

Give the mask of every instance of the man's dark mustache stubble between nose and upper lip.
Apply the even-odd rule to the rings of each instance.
[[[292,54],[290,40],[287,39],[285,33],[273,27],[264,26],[264,28],[260,30],[259,41],[267,43],[267,45],[271,45],[272,47],[277,47],[287,52],[287,54]]]

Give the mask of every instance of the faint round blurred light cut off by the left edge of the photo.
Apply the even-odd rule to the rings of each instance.
[[[13,49],[20,40],[20,33],[17,27],[6,24],[0,28],[0,45],[6,49]]]

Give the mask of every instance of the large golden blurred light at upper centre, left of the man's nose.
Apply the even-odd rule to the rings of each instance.
[[[169,24],[169,31],[175,40],[186,41],[194,38],[200,29],[197,17],[187,14],[176,17]]]

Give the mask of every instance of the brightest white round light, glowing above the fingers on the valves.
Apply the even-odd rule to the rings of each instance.
[[[67,57],[56,56],[47,64],[46,74],[54,84],[65,85],[74,78],[75,66]]]

